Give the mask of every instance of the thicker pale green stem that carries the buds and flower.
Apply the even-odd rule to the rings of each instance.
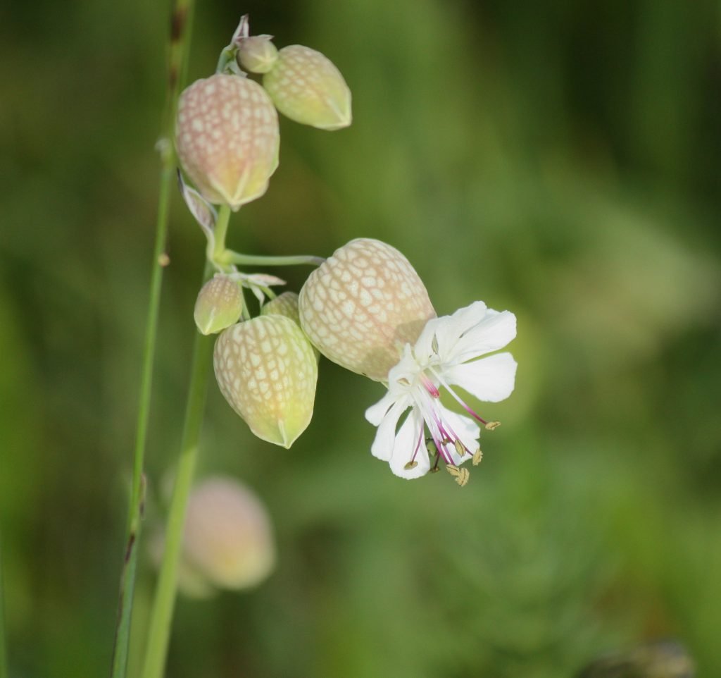
[[[229,207],[221,207],[215,235],[216,242],[220,241],[222,247],[225,246],[224,234],[228,227],[229,217]],[[212,264],[206,262],[203,282],[208,280],[212,273]],[[143,678],[162,678],[165,668],[175,607],[177,567],[182,547],[185,510],[190,488],[193,485],[195,464],[198,459],[198,442],[200,440],[200,426],[203,422],[205,393],[208,390],[208,368],[210,367],[212,347],[211,337],[196,333],[195,344],[193,345],[193,362],[190,370],[190,385],[188,386],[185,404],[185,424],[183,425],[180,459],[165,531],[163,560],[151,611],[148,646],[142,673]]]

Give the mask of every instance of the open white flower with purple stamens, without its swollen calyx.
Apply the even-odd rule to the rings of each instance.
[[[476,421],[488,428],[497,423],[479,417],[453,387],[459,386],[479,400],[508,398],[517,367],[510,353],[474,359],[502,349],[515,336],[516,316],[508,310],[487,308],[482,301],[452,316],[428,321],[415,345],[406,344],[401,360],[389,371],[388,393],[366,410],[366,419],[378,427],[373,456],[388,461],[397,476],[412,479],[431,470],[430,449],[438,455],[434,468],[438,461],[444,461],[456,482],[465,484],[468,471],[457,467],[474,455],[474,461],[479,461],[480,429]],[[473,418],[443,407],[441,388],[446,388]]]

